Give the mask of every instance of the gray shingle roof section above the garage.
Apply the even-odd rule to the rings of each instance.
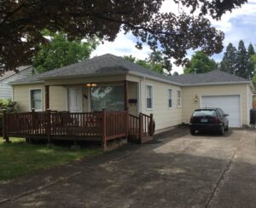
[[[237,77],[236,75],[228,72],[214,70],[212,72],[201,74],[182,74],[169,77],[173,82],[179,84],[214,84],[214,83],[236,83],[236,82],[249,82],[246,78]]]

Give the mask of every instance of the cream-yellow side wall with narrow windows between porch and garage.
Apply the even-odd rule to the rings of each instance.
[[[153,86],[153,109],[146,109],[146,85]],[[177,107],[177,90],[179,86],[143,79],[140,84],[142,113],[154,114],[155,130],[165,129],[182,123],[182,107]],[[168,89],[172,89],[172,108],[168,107]],[[183,93],[183,92],[182,92]]]

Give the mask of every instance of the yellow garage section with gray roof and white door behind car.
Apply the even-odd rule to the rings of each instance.
[[[183,122],[196,108],[220,107],[229,114],[230,127],[249,125],[253,108],[253,84],[227,72],[212,71],[202,74],[173,76],[172,81],[183,84]]]

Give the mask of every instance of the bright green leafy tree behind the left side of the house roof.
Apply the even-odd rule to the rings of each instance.
[[[33,58],[33,66],[38,72],[49,71],[88,59],[98,43],[95,39],[69,41],[64,32],[44,31],[43,34],[50,40],[49,43],[39,46],[38,53]]]

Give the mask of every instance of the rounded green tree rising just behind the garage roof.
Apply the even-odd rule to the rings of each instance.
[[[211,72],[212,70],[217,69],[217,63],[210,59],[202,51],[196,51],[195,55],[192,55],[191,60],[189,61],[189,66],[184,68],[184,73],[205,73]]]

